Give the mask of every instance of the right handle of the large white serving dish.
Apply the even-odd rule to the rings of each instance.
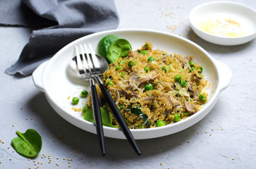
[[[231,82],[232,71],[225,63],[215,60],[218,72],[219,72],[219,85],[220,92],[228,87]]]

